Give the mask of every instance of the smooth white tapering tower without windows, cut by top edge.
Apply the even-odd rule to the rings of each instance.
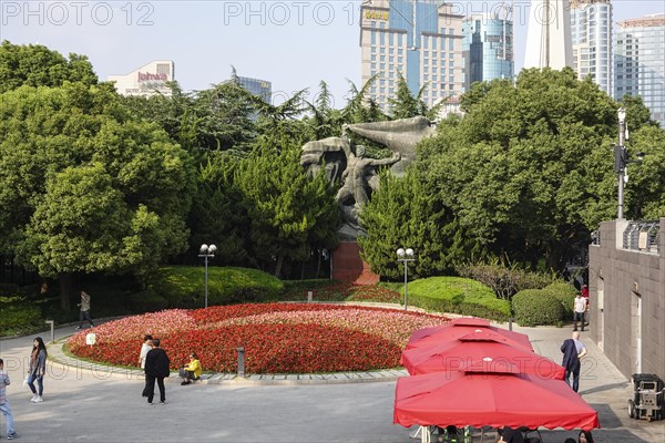
[[[573,68],[569,0],[531,0],[524,68]]]

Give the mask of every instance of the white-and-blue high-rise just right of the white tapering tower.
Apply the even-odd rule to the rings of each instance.
[[[573,68],[580,79],[591,75],[608,95],[612,86],[612,3],[571,0]]]

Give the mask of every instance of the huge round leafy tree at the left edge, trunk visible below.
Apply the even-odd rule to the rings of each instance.
[[[0,250],[59,278],[145,274],[186,247],[190,156],[109,84],[0,96]]]

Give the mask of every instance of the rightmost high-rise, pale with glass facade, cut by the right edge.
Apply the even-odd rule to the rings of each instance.
[[[641,95],[652,119],[665,127],[665,14],[618,23],[614,97]]]

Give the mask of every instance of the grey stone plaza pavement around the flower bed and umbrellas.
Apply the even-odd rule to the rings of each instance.
[[[501,324],[507,327],[507,324]],[[534,350],[561,361],[561,342],[570,328],[520,328]],[[55,330],[49,346],[44,402],[31,403],[22,387],[28,354],[35,336],[0,341],[0,357],[12,384],[8,399],[13,410],[19,442],[419,442],[416,427],[392,424],[397,377],[405,371],[330,375],[249,377],[215,374],[203,382],[181,387],[166,382],[166,404],[149,406],[141,396],[143,375],[137,371],[73,360],[61,348],[73,327]],[[39,334],[44,340],[50,333]],[[586,337],[580,393],[598,411],[602,429],[597,443],[664,443],[665,421],[647,422],[627,416],[632,383]],[[139,346],[136,349],[139,352]],[[525,393],[528,395],[528,393]],[[0,435],[4,422],[0,415]],[[542,432],[546,443],[562,443],[575,432]],[[482,441],[493,442],[488,431]],[[480,432],[474,442],[481,441]]]

